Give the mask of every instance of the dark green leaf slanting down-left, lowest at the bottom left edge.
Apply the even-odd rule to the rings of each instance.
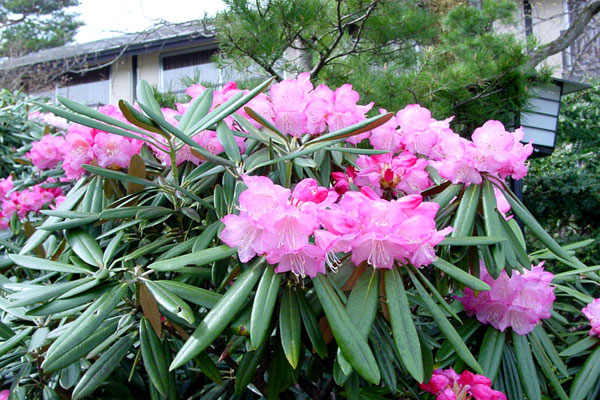
[[[129,334],[105,351],[73,389],[73,400],[79,400],[92,394],[125,358],[134,341],[135,335]]]

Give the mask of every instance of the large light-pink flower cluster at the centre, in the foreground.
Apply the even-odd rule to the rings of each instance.
[[[266,255],[277,272],[315,277],[325,273],[335,253],[352,253],[352,262],[392,268],[394,262],[417,267],[435,260],[434,246],[452,228],[437,231],[437,203],[418,194],[384,200],[368,187],[339,197],[313,179],[293,192],[269,178],[244,176],[247,189],[239,199],[239,215],[223,218],[221,240],[238,248],[242,262]]]

